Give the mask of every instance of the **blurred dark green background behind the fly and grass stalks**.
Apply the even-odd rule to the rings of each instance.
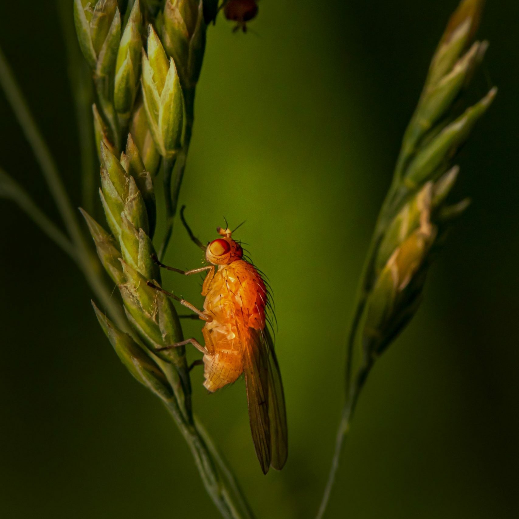
[[[79,206],[59,17],[53,2],[23,4],[0,3],[0,44]],[[242,382],[209,395],[195,371],[194,403],[258,517],[315,516],[354,290],[456,5],[262,0],[249,34],[223,19],[210,29],[181,202],[203,241],[223,216],[231,226],[246,219],[237,237],[274,288],[286,467],[262,475]],[[517,20],[515,0],[489,2],[480,34],[491,46],[475,91],[496,84],[500,93],[460,158],[457,194],[473,206],[432,268],[417,317],[370,377],[329,517],[517,517]],[[0,121],[0,164],[56,217],[3,95]],[[217,517],[173,421],[95,322],[76,267],[12,203],[0,202],[0,222],[0,516]],[[166,259],[200,265],[180,226]],[[165,285],[202,304],[199,280],[172,274]],[[185,331],[200,337],[200,323]]]

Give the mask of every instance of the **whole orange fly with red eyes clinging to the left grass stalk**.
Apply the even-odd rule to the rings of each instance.
[[[194,365],[203,363],[203,385],[211,392],[233,383],[242,373],[245,375],[257,457],[265,474],[270,466],[280,470],[288,454],[288,434],[281,374],[274,342],[266,326],[270,301],[265,281],[256,267],[243,258],[243,249],[231,238],[232,231],[228,228],[218,227],[220,238],[211,241],[207,248],[193,236],[187,225],[186,228],[190,237],[205,250],[211,266],[186,271],[162,265],[156,258],[155,261],[163,268],[186,276],[207,271],[202,286],[202,295],[206,297],[203,311],[149,284],[206,321],[202,328],[205,346],[191,338],[167,348],[190,343],[200,350],[203,359]]]

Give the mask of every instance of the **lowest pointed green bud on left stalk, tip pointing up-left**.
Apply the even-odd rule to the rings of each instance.
[[[92,301],[95,315],[105,335],[110,340],[117,356],[133,377],[151,389],[160,398],[171,397],[168,380],[160,367],[150,358],[137,343],[102,313]]]

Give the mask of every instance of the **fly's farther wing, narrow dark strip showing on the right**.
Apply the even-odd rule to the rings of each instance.
[[[268,348],[268,416],[270,421],[270,442],[272,459],[270,464],[281,470],[288,456],[288,429],[286,427],[285,395],[278,359],[274,351],[274,341],[265,326],[262,333],[265,347]]]

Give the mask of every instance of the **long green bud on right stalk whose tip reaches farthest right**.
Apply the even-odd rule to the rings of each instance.
[[[416,189],[427,182],[454,155],[458,147],[468,138],[476,121],[494,101],[496,93],[496,88],[491,89],[479,103],[468,108],[416,155],[409,165],[404,179],[409,189]]]

